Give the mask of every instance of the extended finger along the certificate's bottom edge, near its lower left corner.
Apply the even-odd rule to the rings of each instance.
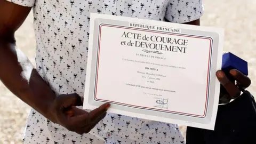
[[[92,110],[89,113],[89,119],[91,119],[92,122],[95,121],[98,117],[100,117],[102,114],[104,114],[108,110],[109,107],[110,107],[110,103],[104,103],[99,108]]]

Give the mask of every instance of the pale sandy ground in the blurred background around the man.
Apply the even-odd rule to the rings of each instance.
[[[204,0],[205,13],[202,26],[225,28],[225,51],[233,52],[249,62],[252,85],[248,89],[256,92],[256,1],[254,0]],[[16,33],[17,45],[34,63],[35,37],[33,13]],[[29,106],[15,97],[0,82],[0,144],[22,143],[22,132]],[[182,127],[185,131],[186,127]],[[185,134],[185,133],[184,133]]]

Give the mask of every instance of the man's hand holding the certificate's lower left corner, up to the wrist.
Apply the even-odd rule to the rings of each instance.
[[[106,116],[110,103],[105,103],[90,113],[76,108],[82,105],[83,98],[78,94],[58,95],[50,108],[52,117],[55,118],[51,120],[66,127],[69,131],[78,134],[89,133]]]

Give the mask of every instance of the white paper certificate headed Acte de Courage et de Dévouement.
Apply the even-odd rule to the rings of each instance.
[[[91,13],[83,108],[213,130],[223,34]]]

